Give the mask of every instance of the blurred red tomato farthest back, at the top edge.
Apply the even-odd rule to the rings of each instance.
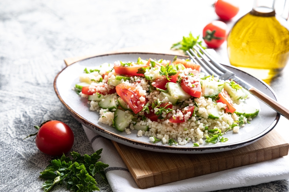
[[[216,14],[225,21],[230,20],[239,12],[239,7],[233,1],[217,0],[215,3]]]

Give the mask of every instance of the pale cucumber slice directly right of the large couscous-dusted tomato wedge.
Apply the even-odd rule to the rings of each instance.
[[[215,81],[213,79],[205,79],[202,81],[202,93],[204,97],[211,97],[218,95],[224,85],[218,81]]]

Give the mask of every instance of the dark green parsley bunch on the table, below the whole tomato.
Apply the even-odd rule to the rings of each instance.
[[[102,149],[99,149],[92,155],[83,155],[73,151],[70,157],[64,154],[60,159],[53,159],[46,169],[40,172],[40,178],[47,181],[42,184],[44,191],[50,191],[55,185],[66,183],[67,189],[71,191],[99,191],[96,186],[95,174],[99,174],[101,178],[107,182],[103,169],[108,167],[98,159]]]

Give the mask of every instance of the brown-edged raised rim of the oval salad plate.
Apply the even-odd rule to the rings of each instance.
[[[71,108],[71,106],[69,106],[66,102],[67,100],[65,98],[62,97],[62,95],[60,94],[60,87],[58,86],[58,81],[59,81],[59,77],[60,75],[62,75],[63,73],[65,73],[64,71],[73,67],[74,65],[76,65],[79,62],[86,62],[89,61],[91,59],[94,58],[101,58],[101,57],[110,57],[110,56],[125,56],[125,55],[130,55],[130,56],[138,56],[138,55],[146,55],[146,56],[150,56],[154,55],[156,57],[154,58],[165,58],[165,57],[171,57],[173,58],[175,55],[172,54],[158,54],[158,53],[141,53],[141,52],[124,52],[124,53],[113,53],[113,54],[103,54],[103,55],[99,55],[99,56],[94,56],[94,57],[90,57],[90,58],[86,58],[80,61],[77,61],[69,66],[66,66],[64,69],[62,69],[62,71],[60,71],[55,79],[54,79],[54,90],[55,93],[57,95],[57,97],[59,98],[60,102],[64,105],[64,107],[68,110],[68,112],[77,120],[79,121],[82,125],[88,127],[89,129],[91,129],[92,131],[96,132],[97,134],[108,138],[110,140],[113,140],[115,142],[121,143],[123,145],[127,145],[129,147],[134,147],[134,148],[138,148],[138,149],[144,149],[144,150],[149,150],[149,151],[158,151],[158,152],[169,152],[169,153],[213,153],[213,152],[220,152],[220,151],[228,151],[228,150],[232,150],[232,149],[237,149],[240,147],[244,147],[246,145],[249,145],[253,142],[256,142],[257,140],[259,140],[260,138],[262,138],[263,136],[265,136],[268,132],[270,132],[277,124],[277,122],[279,121],[280,115],[278,113],[276,113],[276,115],[273,115],[274,118],[272,119],[272,122],[270,123],[270,125],[268,127],[266,127],[264,130],[262,130],[262,132],[260,132],[257,135],[253,135],[252,137],[246,139],[246,140],[242,140],[240,142],[235,142],[235,143],[231,143],[231,144],[225,144],[225,145],[207,145],[207,146],[200,146],[200,147],[192,147],[192,146],[169,146],[169,145],[158,145],[158,144],[153,144],[151,142],[142,142],[136,139],[131,139],[131,138],[127,138],[126,136],[122,136],[120,134],[117,134],[115,132],[112,132],[108,129],[103,128],[104,126],[98,126],[95,123],[92,123],[91,121],[89,121],[88,119],[86,119],[86,117],[83,117],[81,115],[79,115],[79,113],[77,113],[75,110],[73,110]],[[186,58],[185,56],[178,56],[179,58]],[[142,57],[143,58],[143,57]],[[98,63],[98,64],[102,64],[102,63]],[[97,66],[97,64],[95,64],[95,66]],[[271,96],[272,98],[277,100],[277,96],[275,94],[275,92],[271,89],[270,86],[268,86],[266,83],[264,83],[262,80],[257,79],[255,77],[253,77],[252,75],[249,75],[248,73],[245,73],[233,66],[227,66],[224,65],[225,67],[229,68],[231,71],[234,71],[234,73],[238,72],[239,74],[245,74],[245,76],[249,77],[249,79],[253,79],[255,83],[250,82],[250,84],[255,84],[255,86],[257,85],[257,88],[263,87],[265,88],[263,91],[264,93],[268,94],[269,96]],[[235,72],[236,71],[236,72]],[[79,75],[81,74],[82,71],[79,71]],[[78,96],[79,97],[79,96]],[[80,99],[80,98],[79,98]],[[262,104],[262,102],[259,101],[259,103],[261,105],[265,105]],[[267,106],[267,105],[266,105]],[[271,108],[269,108],[271,109]],[[87,110],[89,110],[89,107],[87,106]],[[272,110],[272,109],[271,109]],[[262,111],[260,111],[260,113],[262,114]],[[260,115],[259,113],[259,115]],[[270,112],[271,113],[271,112]],[[272,113],[275,113],[275,111],[272,110]]]

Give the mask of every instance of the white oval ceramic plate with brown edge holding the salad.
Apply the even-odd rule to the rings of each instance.
[[[74,64],[67,66],[55,77],[54,89],[62,102],[62,104],[68,109],[69,113],[77,119],[81,124],[95,131],[97,134],[114,140],[123,145],[135,147],[139,149],[169,152],[169,153],[212,153],[220,151],[228,151],[249,145],[265,134],[270,132],[279,121],[280,115],[273,109],[268,107],[263,102],[257,100],[255,97],[251,97],[249,102],[252,104],[260,104],[260,112],[257,117],[251,121],[250,124],[246,124],[244,128],[241,128],[239,133],[227,132],[224,136],[229,140],[227,142],[219,143],[219,145],[212,145],[204,143],[200,147],[193,147],[192,142],[187,145],[181,146],[169,146],[164,145],[161,142],[153,144],[149,141],[147,136],[138,137],[137,131],[132,130],[128,135],[125,132],[119,132],[118,130],[98,122],[99,113],[89,110],[86,98],[80,98],[78,94],[72,88],[79,82],[79,75],[83,72],[85,67],[98,66],[104,62],[114,63],[114,61],[121,60],[125,62],[136,61],[138,57],[142,59],[166,59],[173,60],[174,55],[167,54],[149,54],[149,53],[119,53],[119,54],[107,54],[81,60]],[[181,57],[179,57],[181,58]],[[268,96],[276,99],[273,90],[263,81],[256,79],[255,77],[240,71],[234,67],[226,66],[229,70],[236,73],[238,77],[246,80],[251,85],[255,86]]]

